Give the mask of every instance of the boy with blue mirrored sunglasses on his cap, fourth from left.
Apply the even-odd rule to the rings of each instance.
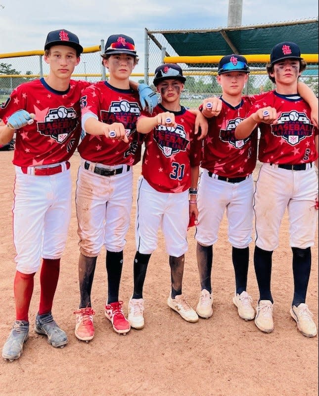
[[[223,106],[218,116],[207,110],[210,98],[203,102],[203,114],[209,118],[209,132],[204,140],[203,169],[198,186],[197,263],[201,293],[196,311],[209,318],[212,313],[211,272],[213,245],[226,210],[228,240],[232,246],[235,294],[232,298],[242,319],[252,320],[255,311],[246,292],[249,243],[252,241],[253,178],[257,157],[257,128],[245,139],[236,139],[234,131],[248,114],[252,104],[266,94],[242,96],[249,67],[244,56],[230,54],[219,62],[217,81],[222,86]],[[305,85],[298,86],[303,95],[314,94]],[[306,91],[306,92],[305,92]],[[212,215],[214,213],[214,215]]]

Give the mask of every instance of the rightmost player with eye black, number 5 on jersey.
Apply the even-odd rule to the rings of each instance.
[[[263,332],[273,331],[272,254],[278,247],[279,226],[287,208],[294,277],[290,314],[304,336],[314,337],[317,328],[306,304],[306,293],[317,221],[314,163],[318,168],[318,127],[314,123],[318,126],[318,99],[314,104],[316,120],[308,103],[297,94],[297,81],[305,68],[297,44],[274,46],[267,71],[276,89],[255,103],[236,127],[235,137],[246,139],[257,125],[261,131],[259,159],[263,164],[254,195],[254,264],[260,292],[255,324]]]

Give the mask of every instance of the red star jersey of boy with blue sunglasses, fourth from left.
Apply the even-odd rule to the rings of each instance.
[[[208,119],[202,168],[224,177],[244,177],[252,173],[257,159],[257,128],[248,138],[240,140],[235,139],[234,132],[257,97],[242,97],[236,107],[221,98],[223,106],[220,114]]]

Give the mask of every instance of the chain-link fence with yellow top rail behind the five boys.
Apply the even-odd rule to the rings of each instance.
[[[307,28],[307,32],[309,33],[310,25],[315,25],[313,29],[316,31],[318,36],[318,21],[317,27],[314,21],[305,21],[311,22],[308,25],[300,25],[299,31],[301,35],[302,32],[305,32]],[[278,37],[279,32],[276,30],[276,27],[283,29],[282,37],[286,37],[286,40],[291,38],[293,33],[291,31],[292,28],[295,28],[295,24],[290,23],[289,26],[271,26],[270,34],[276,35],[274,40],[280,40]],[[239,31],[240,28],[237,30]],[[225,29],[220,30],[225,36]],[[236,28],[235,28],[236,30]],[[258,29],[257,29],[258,30]],[[262,29],[263,30],[263,29]],[[215,34],[216,30],[210,30],[207,34]],[[174,33],[174,31],[172,31]],[[187,31],[188,32],[188,31]],[[176,39],[180,42],[182,41],[182,36],[185,36],[187,32],[175,31]],[[202,31],[189,31],[196,33],[203,33]],[[182,33],[182,35],[181,35]],[[205,32],[204,32],[205,33]],[[230,37],[230,33],[228,36]],[[241,34],[242,32],[240,32]],[[180,34],[180,36],[178,36]],[[235,31],[233,33],[232,39],[234,39],[234,35],[237,34]],[[265,37],[265,29],[261,32],[263,37]],[[305,36],[305,33],[303,33]],[[239,35],[239,33],[238,33]],[[220,55],[211,56],[214,60],[210,63],[203,61],[198,61],[197,63],[193,63],[193,61],[189,61],[189,58],[193,56],[182,56],[182,58],[187,58],[188,60],[180,61],[176,60],[179,58],[179,54],[174,50],[174,48],[170,45],[166,37],[172,36],[172,33],[168,34],[168,32],[164,31],[148,31],[145,29],[145,48],[144,48],[144,75],[140,74],[132,74],[132,76],[140,76],[140,80],[144,79],[145,82],[152,85],[154,71],[157,66],[162,63],[178,63],[183,70],[183,74],[186,77],[186,82],[184,86],[184,92],[182,93],[181,102],[184,106],[187,107],[197,107],[198,104],[202,102],[202,99],[208,98],[210,96],[219,96],[222,92],[221,87],[216,82],[217,75],[217,67],[219,59],[225,55],[230,53],[229,47],[228,52],[225,52],[227,49],[224,47],[224,52],[220,52]],[[228,37],[228,38],[229,38]],[[224,37],[225,38],[225,37]],[[226,37],[227,39],[227,37]],[[298,37],[299,39],[299,37]],[[306,40],[306,39],[305,39]],[[314,41],[310,37],[307,39],[308,41]],[[317,37],[318,40],[318,37]],[[260,45],[261,39],[256,39],[256,42]],[[315,40],[316,41],[316,40]],[[211,43],[205,43],[201,41],[201,45],[207,50],[211,50],[214,47],[215,52],[217,48],[218,40],[214,41],[214,46]],[[275,41],[277,42],[277,41]],[[181,43],[180,47],[181,47]],[[249,43],[250,46],[254,45],[253,43]],[[187,54],[187,50],[191,49],[190,45],[187,46],[187,43],[182,45],[184,53]],[[232,48],[234,49],[234,48]],[[256,49],[256,48],[255,48]],[[263,48],[264,49],[264,48]],[[259,50],[259,49],[258,49]],[[265,52],[269,53],[268,48],[265,48]],[[105,68],[102,66],[101,62],[101,53],[104,52],[104,40],[101,40],[100,45],[90,48],[85,48],[84,53],[81,55],[81,62],[78,66],[76,66],[74,74],[72,78],[74,79],[86,79],[87,81],[96,82],[100,80],[105,80],[108,74],[105,72]],[[194,48],[192,48],[192,52],[194,52]],[[234,50],[235,52],[235,50]],[[264,53],[265,53],[264,52]],[[318,46],[316,49],[316,56],[310,57],[310,60],[307,60],[307,69],[302,73],[301,81],[308,84],[313,91],[318,96]],[[209,52],[207,52],[209,54]],[[235,52],[238,53],[238,52]],[[247,52],[248,53],[248,52]],[[249,52],[251,53],[251,52]],[[258,54],[255,55],[246,55],[249,66],[250,66],[250,75],[248,84],[245,86],[243,94],[253,95],[260,92],[265,92],[273,89],[273,83],[268,78],[268,74],[266,72],[265,60],[260,60],[260,56]],[[5,101],[8,95],[12,92],[12,90],[17,87],[19,84],[32,80],[34,78],[39,78],[45,76],[49,69],[48,65],[44,60],[44,52],[43,50],[39,51],[28,51],[22,53],[10,53],[10,54],[0,54],[0,103]],[[172,58],[173,57],[173,58]],[[265,57],[265,55],[264,55]],[[193,57],[194,58],[194,57]],[[255,59],[255,60],[251,60]],[[315,59],[315,60],[314,60]]]

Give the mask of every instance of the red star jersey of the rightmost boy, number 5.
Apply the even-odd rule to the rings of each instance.
[[[261,107],[277,110],[277,124],[259,124],[261,137],[258,158],[275,164],[300,164],[317,159],[315,135],[318,128],[311,123],[308,103],[296,95],[279,95],[269,92],[255,103],[250,114]]]

